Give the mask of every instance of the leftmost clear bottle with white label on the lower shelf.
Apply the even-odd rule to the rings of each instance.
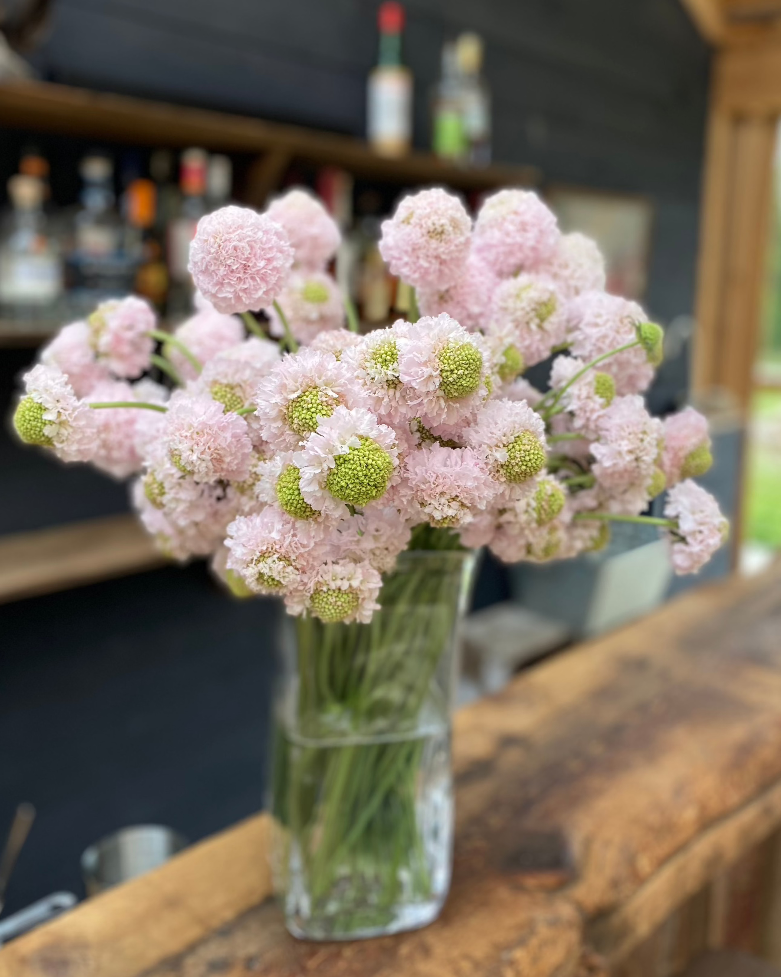
[[[43,210],[45,186],[18,174],[8,182],[12,210],[0,236],[0,310],[24,320],[57,315],[62,260]]]

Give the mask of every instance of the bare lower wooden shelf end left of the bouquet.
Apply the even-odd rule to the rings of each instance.
[[[0,604],[164,563],[131,515],[0,536]]]

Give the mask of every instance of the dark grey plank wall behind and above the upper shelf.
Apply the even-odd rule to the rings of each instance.
[[[57,0],[48,76],[360,135],[378,0]],[[708,53],[679,0],[407,0],[416,142],[443,38],[483,34],[496,157],[656,204],[648,305],[689,313]]]

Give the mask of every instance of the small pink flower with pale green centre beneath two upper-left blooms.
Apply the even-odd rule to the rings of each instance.
[[[294,273],[277,299],[294,337],[304,346],[319,333],[341,329],[345,324],[345,303],[336,281],[324,272]],[[285,334],[276,311],[267,309],[272,336]]]

